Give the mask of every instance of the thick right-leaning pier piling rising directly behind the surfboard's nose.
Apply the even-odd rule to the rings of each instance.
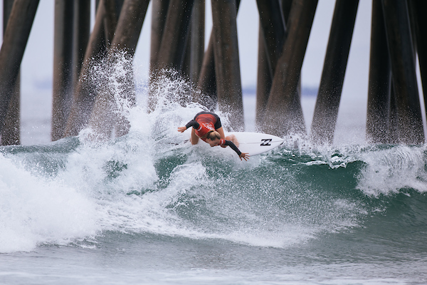
[[[278,59],[265,108],[265,133],[279,136],[306,134],[297,86],[316,7],[317,0],[298,0],[292,3],[288,36]]]

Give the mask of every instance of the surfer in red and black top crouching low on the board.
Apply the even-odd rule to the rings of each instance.
[[[211,112],[200,112],[194,116],[194,119],[189,121],[184,127],[179,127],[178,131],[184,133],[184,131],[191,128],[191,145],[196,145],[199,142],[199,138],[204,142],[209,143],[211,147],[217,145],[221,147],[231,147],[238,157],[242,160],[248,160],[248,152],[241,152],[238,150],[238,141],[235,135],[224,135],[224,130],[221,126],[221,120],[218,115]]]

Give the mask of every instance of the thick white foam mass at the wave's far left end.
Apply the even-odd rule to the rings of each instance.
[[[31,175],[0,155],[0,252],[94,236],[95,204],[60,181]]]

